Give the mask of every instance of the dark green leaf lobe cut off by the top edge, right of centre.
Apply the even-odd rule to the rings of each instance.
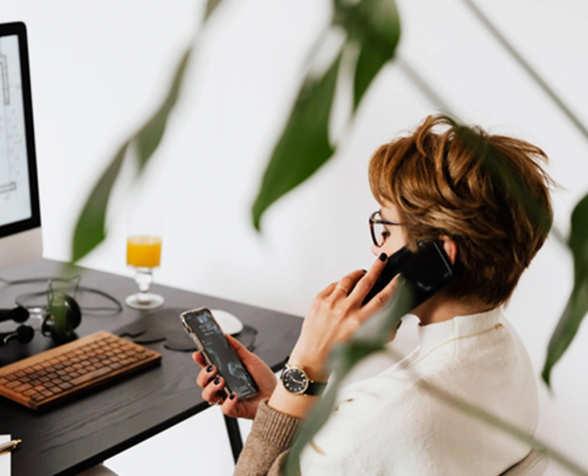
[[[335,0],[334,24],[342,26],[360,53],[353,81],[353,111],[376,74],[395,54],[400,40],[400,20],[394,0]]]

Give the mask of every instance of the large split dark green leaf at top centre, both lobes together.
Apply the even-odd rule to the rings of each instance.
[[[341,51],[359,47],[353,77],[353,113],[383,65],[393,58],[400,39],[400,22],[392,0],[334,0],[330,28],[338,27],[346,40]],[[253,204],[253,225],[260,230],[266,209],[301,184],[333,156],[328,125],[335,95],[340,55],[320,79],[309,72],[300,87],[289,121],[273,148],[260,191]]]

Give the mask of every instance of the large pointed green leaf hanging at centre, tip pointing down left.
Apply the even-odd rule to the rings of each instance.
[[[253,204],[253,225],[257,230],[262,214],[273,202],[304,182],[333,155],[328,119],[340,61],[341,54],[322,77],[307,78],[299,92]]]

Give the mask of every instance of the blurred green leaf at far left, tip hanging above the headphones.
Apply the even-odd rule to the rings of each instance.
[[[104,230],[106,206],[128,147],[129,143],[125,142],[118,150],[111,164],[106,168],[92,193],[90,193],[88,200],[86,200],[86,205],[84,205],[74,230],[73,262],[77,262],[81,257],[90,253],[106,237],[106,231]]]

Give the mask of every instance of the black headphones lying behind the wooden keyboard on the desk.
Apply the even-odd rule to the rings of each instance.
[[[49,302],[42,319],[41,333],[51,337],[56,344],[63,344],[75,338],[74,329],[81,323],[81,310],[72,296],[52,291],[49,291],[48,296]],[[29,310],[23,306],[0,309],[0,322],[22,323],[29,319],[29,315]],[[27,344],[33,340],[34,335],[35,330],[31,326],[22,324],[15,331],[0,333],[0,347],[14,341]]]

